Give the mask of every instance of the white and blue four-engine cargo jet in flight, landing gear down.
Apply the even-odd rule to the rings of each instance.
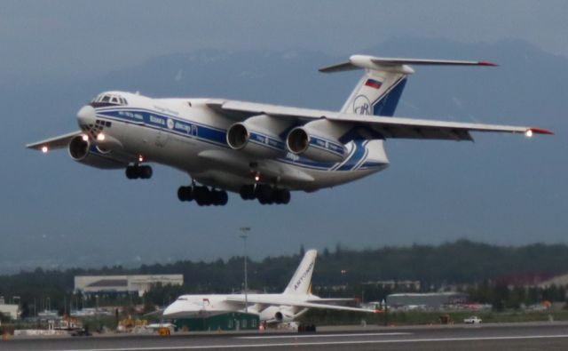
[[[80,131],[29,144],[67,148],[75,161],[125,169],[149,179],[148,163],[187,172],[180,201],[224,205],[227,191],[263,204],[288,203],[387,168],[388,139],[473,140],[470,132],[552,134],[531,127],[469,124],[394,116],[410,65],[495,66],[485,61],[392,59],[353,55],[321,72],[362,69],[340,111],[222,99],[152,99],[102,92],[77,113]]]

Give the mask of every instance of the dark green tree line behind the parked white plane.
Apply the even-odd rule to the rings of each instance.
[[[282,291],[293,275],[303,251],[304,248],[295,255],[267,257],[260,261],[249,260],[249,288],[265,292]],[[366,296],[369,300],[379,299],[390,290],[370,289],[371,285],[362,283],[417,280],[421,282],[421,291],[436,290],[448,283],[469,284],[481,289],[480,287],[485,285],[506,285],[508,277],[552,276],[567,271],[568,245],[565,244],[536,243],[516,247],[458,240],[439,245],[385,246],[367,250],[351,250],[337,245],[333,251],[326,249],[319,253],[312,282],[314,292],[323,296],[355,293],[356,296]],[[33,304],[36,310],[44,307],[44,301],[49,297],[51,307],[63,311],[68,308],[63,307],[65,301],[67,306],[73,304],[74,299],[73,306],[84,302],[76,301],[72,294],[75,275],[128,274],[184,275],[184,286],[159,286],[146,294],[147,299],[152,300],[154,304],[162,305],[181,293],[241,291],[243,258],[217,259],[212,262],[180,260],[170,264],[145,264],[138,268],[37,268],[14,275],[0,275],[0,296],[5,299],[19,296],[22,305],[30,308]],[[329,288],[332,286],[347,288],[334,290]],[[469,292],[473,296],[488,296],[482,293],[476,295],[476,291]],[[510,291],[508,293],[510,294]],[[484,299],[480,298],[479,302],[485,302]],[[528,298],[523,295],[514,299],[524,301]]]

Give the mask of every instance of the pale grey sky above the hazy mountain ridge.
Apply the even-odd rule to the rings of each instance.
[[[398,36],[524,39],[568,55],[568,2],[2,1],[0,68],[85,75],[172,52],[307,48],[349,55]]]

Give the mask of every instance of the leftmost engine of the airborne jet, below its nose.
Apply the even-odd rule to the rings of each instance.
[[[110,151],[91,144],[87,136],[77,135],[67,146],[69,156],[78,163],[102,169],[121,169],[128,165],[110,156]]]

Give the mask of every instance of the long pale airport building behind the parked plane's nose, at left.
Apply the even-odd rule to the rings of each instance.
[[[136,293],[141,297],[153,285],[183,283],[184,275],[76,275],[75,292],[85,295]]]

